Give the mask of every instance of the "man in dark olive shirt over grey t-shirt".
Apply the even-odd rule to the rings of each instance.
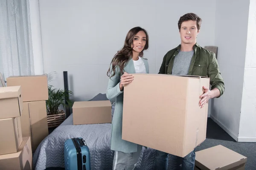
[[[158,74],[196,75],[210,78],[211,90],[204,88],[204,94],[200,96],[199,105],[201,108],[209,99],[218,98],[224,93],[224,82],[218,68],[215,54],[198,45],[197,35],[200,31],[201,18],[196,14],[188,13],[180,17],[178,28],[181,44],[167,52],[163,57],[163,63]],[[180,160],[180,161],[178,161]],[[168,154],[157,151],[157,170],[167,169]],[[171,167],[182,170],[194,170],[195,149],[184,158],[172,156]]]

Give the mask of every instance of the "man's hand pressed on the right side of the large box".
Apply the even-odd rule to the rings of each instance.
[[[204,107],[204,105],[208,102],[209,99],[218,97],[221,94],[218,88],[214,88],[212,90],[209,90],[209,88],[204,86],[203,88],[204,88],[204,94],[200,96],[201,100],[199,102],[199,106],[201,106],[201,108]]]

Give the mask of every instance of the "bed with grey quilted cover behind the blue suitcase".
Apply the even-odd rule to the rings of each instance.
[[[91,101],[108,100],[106,94],[98,94]],[[112,104],[112,117],[114,111]],[[110,149],[111,124],[73,125],[73,113],[38,146],[33,155],[35,170],[47,167],[64,168],[64,142],[82,137],[90,149],[91,170],[111,170],[114,152]],[[143,147],[136,170],[155,169],[155,150]]]

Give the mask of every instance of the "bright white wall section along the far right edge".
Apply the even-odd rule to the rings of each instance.
[[[256,142],[256,0],[250,0],[244,86],[239,127],[240,142]]]

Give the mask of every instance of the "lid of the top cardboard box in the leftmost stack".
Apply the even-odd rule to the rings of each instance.
[[[19,97],[20,95],[20,85],[0,88],[0,99],[14,98]]]

